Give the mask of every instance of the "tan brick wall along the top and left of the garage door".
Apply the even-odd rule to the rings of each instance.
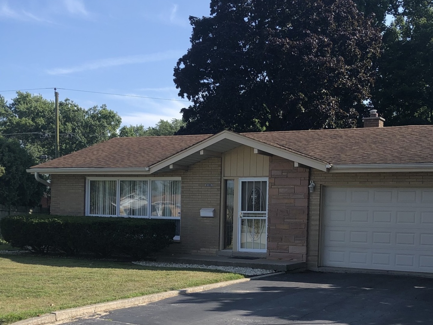
[[[323,186],[433,186],[433,172],[329,173],[311,169],[311,179],[316,184],[309,198],[307,265],[312,270],[317,269],[320,254],[320,199]]]

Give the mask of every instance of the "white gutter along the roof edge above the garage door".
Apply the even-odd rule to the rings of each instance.
[[[410,164],[343,164],[332,165],[330,172],[432,172],[433,163]]]

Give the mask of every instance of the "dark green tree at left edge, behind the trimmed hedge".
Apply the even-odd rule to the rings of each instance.
[[[0,205],[39,205],[45,186],[26,172],[36,161],[16,139],[0,137],[0,166],[4,174],[0,177]]]

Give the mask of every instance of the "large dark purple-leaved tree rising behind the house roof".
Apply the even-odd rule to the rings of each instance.
[[[353,127],[381,34],[351,0],[212,0],[174,68],[179,133]]]

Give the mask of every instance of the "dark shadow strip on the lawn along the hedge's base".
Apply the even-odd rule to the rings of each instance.
[[[87,257],[65,257],[58,255],[35,255],[32,253],[23,253],[17,255],[0,254],[0,258],[6,258],[16,263],[57,266],[57,267],[87,267],[87,268],[103,268],[103,269],[126,269],[126,270],[160,270],[161,267],[141,266],[131,263],[132,260],[102,260]],[[217,272],[226,273],[220,270],[208,269],[185,269],[176,267],[164,267],[164,270],[197,270],[202,272]]]

